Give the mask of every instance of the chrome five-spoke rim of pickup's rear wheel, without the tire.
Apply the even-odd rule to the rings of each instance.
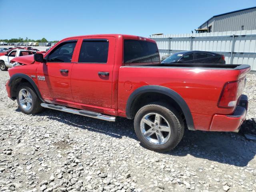
[[[154,145],[165,144],[171,136],[169,122],[158,113],[148,113],[140,121],[142,136]]]

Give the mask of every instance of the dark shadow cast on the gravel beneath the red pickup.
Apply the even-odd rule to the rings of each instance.
[[[133,120],[126,118],[117,118],[116,122],[106,122],[50,109],[44,110],[38,115],[47,116],[49,119],[69,126],[107,134],[119,139],[126,136],[138,140],[134,132]],[[196,158],[235,166],[246,166],[256,154],[256,142],[248,141],[238,133],[185,130],[184,137],[178,146],[174,150],[162,154],[171,156],[190,154]]]

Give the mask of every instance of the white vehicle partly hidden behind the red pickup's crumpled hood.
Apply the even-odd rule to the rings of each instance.
[[[35,54],[35,50],[28,50],[28,49],[14,49],[11,50],[8,54],[0,56],[0,69],[2,71],[6,71],[8,68],[13,67],[14,65],[10,63],[10,61],[14,57],[19,56],[26,56],[26,55],[32,55]]]

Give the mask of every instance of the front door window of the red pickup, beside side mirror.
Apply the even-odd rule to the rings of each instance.
[[[75,46],[76,40],[59,44],[50,52],[47,62],[71,62]]]

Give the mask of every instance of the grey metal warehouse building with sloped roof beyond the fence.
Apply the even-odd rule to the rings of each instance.
[[[197,32],[223,32],[256,29],[256,7],[215,15],[198,27]]]

